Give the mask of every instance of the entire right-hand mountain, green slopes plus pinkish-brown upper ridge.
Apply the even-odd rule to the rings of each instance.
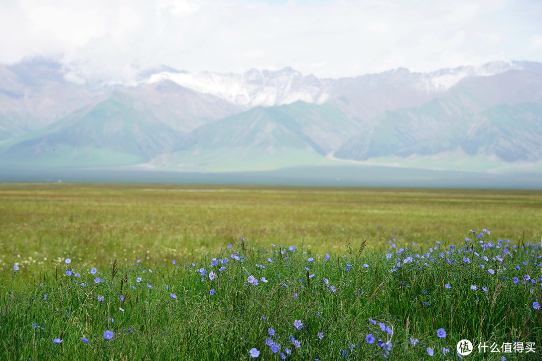
[[[541,95],[542,77],[525,71],[470,78],[440,99],[386,111],[334,156],[399,164],[411,162],[408,157],[433,156],[431,167],[447,153],[491,159],[495,165],[542,160]]]

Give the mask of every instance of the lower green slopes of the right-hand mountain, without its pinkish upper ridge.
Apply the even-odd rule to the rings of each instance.
[[[494,157],[502,162],[542,160],[542,104],[499,104],[469,113],[442,100],[416,109],[390,111],[334,156],[430,156],[459,150],[464,156]]]

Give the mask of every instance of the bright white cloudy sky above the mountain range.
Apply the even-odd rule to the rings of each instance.
[[[1,0],[0,62],[129,81],[160,64],[317,77],[542,62],[538,0]]]

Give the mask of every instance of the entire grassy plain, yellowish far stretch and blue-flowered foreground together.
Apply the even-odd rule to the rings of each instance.
[[[541,216],[534,191],[5,183],[0,360],[535,360]]]

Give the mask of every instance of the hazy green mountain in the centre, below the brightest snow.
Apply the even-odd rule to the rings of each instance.
[[[193,130],[150,166],[222,172],[335,164],[326,155],[358,129],[327,104],[257,107]]]

